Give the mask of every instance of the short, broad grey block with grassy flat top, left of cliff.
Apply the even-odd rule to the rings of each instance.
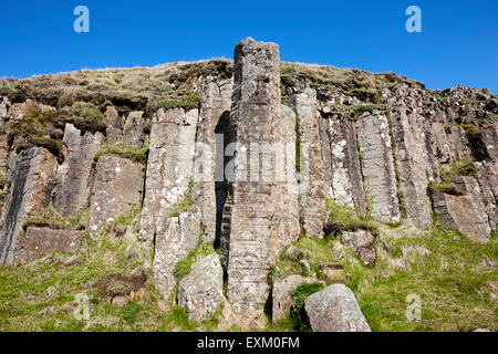
[[[128,159],[101,156],[90,198],[90,229],[97,231],[142,201],[144,168]]]

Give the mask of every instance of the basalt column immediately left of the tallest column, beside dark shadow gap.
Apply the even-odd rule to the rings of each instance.
[[[230,121],[232,80],[207,81],[200,87],[200,111],[194,173],[194,199],[206,241],[219,232],[225,190],[225,136]],[[218,225],[217,225],[218,222]]]

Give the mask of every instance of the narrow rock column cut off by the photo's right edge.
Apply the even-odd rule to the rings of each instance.
[[[498,163],[475,163],[491,230],[498,230]]]

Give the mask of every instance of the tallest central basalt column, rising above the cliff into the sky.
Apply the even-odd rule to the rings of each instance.
[[[292,117],[289,111],[282,112],[280,103],[279,56],[277,44],[252,39],[243,40],[235,50],[230,129],[237,153],[228,296],[234,308],[247,316],[262,314],[269,295],[268,271],[282,247],[298,237],[292,221],[297,219],[298,208],[283,192],[294,194],[297,204],[295,181],[272,173],[278,170],[276,160],[282,158],[272,149],[274,144],[294,144],[291,134],[284,132],[292,129],[292,122],[279,125],[284,124],[282,118]],[[295,154],[295,147],[291,153]],[[260,160],[271,160],[271,164],[260,164]],[[286,162],[289,165],[291,159]]]

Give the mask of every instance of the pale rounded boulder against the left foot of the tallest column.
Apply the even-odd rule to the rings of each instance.
[[[224,270],[216,253],[195,262],[178,285],[178,304],[194,321],[207,320],[224,300]]]

